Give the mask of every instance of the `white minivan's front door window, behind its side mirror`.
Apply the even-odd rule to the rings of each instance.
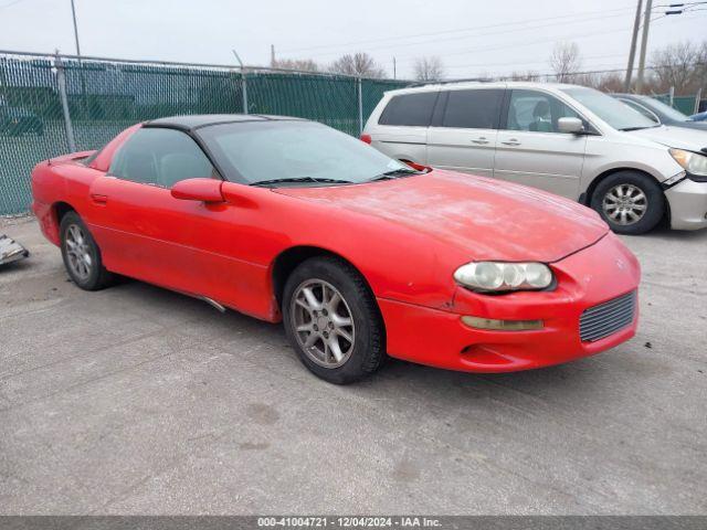
[[[560,132],[557,120],[582,117],[557,97],[542,92],[513,91],[506,128],[534,132]]]

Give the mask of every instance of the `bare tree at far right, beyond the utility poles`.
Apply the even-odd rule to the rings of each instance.
[[[651,66],[658,89],[675,87],[676,94],[694,94],[705,77],[707,42],[701,46],[689,41],[667,45],[653,52]]]

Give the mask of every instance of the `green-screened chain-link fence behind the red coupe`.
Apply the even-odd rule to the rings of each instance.
[[[0,53],[0,215],[31,201],[40,160],[97,149],[137,121],[277,114],[358,135],[384,91],[408,82],[267,68]]]

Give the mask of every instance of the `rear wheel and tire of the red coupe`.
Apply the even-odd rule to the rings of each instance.
[[[64,267],[84,290],[99,290],[113,282],[103,266],[101,250],[76,212],[67,212],[59,229]]]

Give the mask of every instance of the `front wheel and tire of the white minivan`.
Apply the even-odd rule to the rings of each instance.
[[[618,171],[599,183],[591,206],[614,232],[639,235],[661,222],[665,195],[652,177],[637,171]]]

